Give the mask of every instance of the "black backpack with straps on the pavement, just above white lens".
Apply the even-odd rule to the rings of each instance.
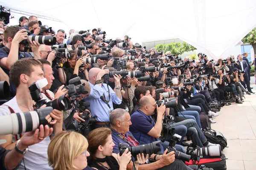
[[[213,144],[220,144],[221,150],[227,147],[227,139],[223,136],[223,134],[217,130],[213,129],[203,129],[204,136],[206,137],[207,141]]]

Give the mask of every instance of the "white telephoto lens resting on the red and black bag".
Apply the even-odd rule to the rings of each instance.
[[[198,153],[197,151],[198,150],[195,149],[195,153]],[[200,156],[221,156],[221,145],[201,147]]]

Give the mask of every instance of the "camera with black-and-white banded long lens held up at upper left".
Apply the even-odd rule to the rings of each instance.
[[[21,29],[20,29],[21,30]],[[19,30],[19,31],[20,31]],[[20,42],[20,44],[22,45],[27,45],[29,44],[29,40],[33,41],[37,41],[39,44],[45,44],[45,45],[55,45],[56,44],[56,38],[52,37],[50,35],[31,35],[31,32],[26,30],[26,32],[28,33],[28,39],[27,40],[22,40]]]

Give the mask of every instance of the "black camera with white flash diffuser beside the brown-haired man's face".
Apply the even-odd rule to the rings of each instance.
[[[46,78],[40,79],[29,86],[29,91],[32,99],[36,102],[35,108],[41,108],[42,105],[46,104],[47,107],[52,107],[53,109],[59,111],[67,111],[70,109],[69,98],[65,95],[60,96],[58,99],[54,99],[50,102],[46,102],[46,99],[43,99],[40,89],[44,88],[48,84]]]

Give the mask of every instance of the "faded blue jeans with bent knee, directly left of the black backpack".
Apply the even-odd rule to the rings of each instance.
[[[184,125],[187,127],[187,135],[191,136],[191,140],[193,144],[204,147],[204,143],[207,142],[207,139],[204,136],[204,133],[202,132],[201,128],[198,127],[195,120],[192,119],[186,119],[181,122],[169,124],[169,127],[174,127],[177,125]]]

